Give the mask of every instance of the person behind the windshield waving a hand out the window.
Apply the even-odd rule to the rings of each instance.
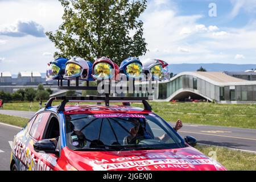
[[[146,131],[146,121],[143,118],[129,118],[129,121],[135,126],[130,129],[130,135],[123,139],[123,144],[137,144],[139,143],[139,138],[158,139],[162,140],[163,142],[170,138],[167,134],[163,134],[161,137],[153,137]],[[176,121],[174,130],[178,131],[182,126],[183,124],[181,119],[178,119]]]

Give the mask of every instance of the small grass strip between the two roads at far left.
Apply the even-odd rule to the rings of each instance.
[[[26,125],[29,119],[21,118],[21,117],[14,117],[10,115],[0,114],[0,122],[7,123],[10,125],[20,126],[23,127]]]

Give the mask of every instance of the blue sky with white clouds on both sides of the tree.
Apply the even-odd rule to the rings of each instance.
[[[169,64],[256,64],[256,0],[148,0],[148,52]],[[45,72],[62,22],[57,0],[0,0],[0,71]],[[133,55],[131,55],[133,56]]]

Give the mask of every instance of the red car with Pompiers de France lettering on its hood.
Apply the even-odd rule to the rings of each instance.
[[[63,102],[48,102],[15,136],[11,170],[226,170],[147,104],[141,109]]]

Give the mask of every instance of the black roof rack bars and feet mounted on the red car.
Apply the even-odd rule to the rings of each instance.
[[[51,97],[46,102],[45,108],[52,106],[52,102],[55,100],[62,100],[60,105],[57,107],[58,111],[65,111],[65,105],[68,102],[105,102],[106,106],[109,106],[109,102],[122,102],[125,106],[130,106],[130,102],[142,102],[144,110],[152,111],[152,107],[146,100],[150,100],[148,97],[109,97],[109,94],[105,96],[88,96],[88,97],[77,97],[77,96],[62,96],[62,97]]]

